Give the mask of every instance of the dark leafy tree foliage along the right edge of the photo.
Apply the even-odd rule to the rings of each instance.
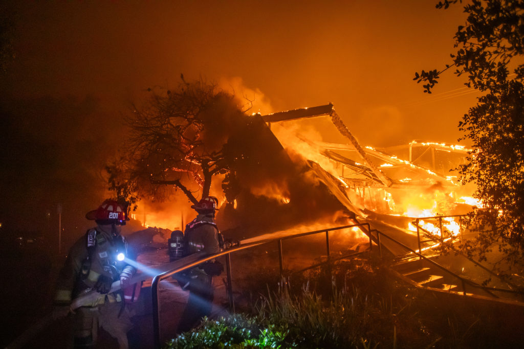
[[[464,12],[452,64],[415,73],[413,80],[431,93],[440,75],[454,67],[457,76],[467,75],[466,86],[483,93],[459,123],[460,140],[474,149],[461,177],[477,185],[475,196],[484,203],[474,218],[480,233],[462,247],[482,261],[498,246],[503,261],[515,265],[524,256],[524,1],[472,0]]]

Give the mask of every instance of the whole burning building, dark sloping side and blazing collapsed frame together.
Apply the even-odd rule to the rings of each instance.
[[[311,118],[328,122],[331,134],[343,141],[330,142],[297,127]],[[219,226],[234,238],[298,226],[307,231],[369,222],[417,249],[417,225],[429,233],[440,227],[430,219],[413,224],[414,220],[471,210],[468,194],[473,190],[465,193],[467,188],[450,171],[465,162],[464,147],[418,141],[388,148],[364,146],[332,104],[254,114],[238,122],[224,145],[231,173],[222,178],[221,187],[212,188],[222,202]],[[192,214],[171,212],[171,226],[180,229]],[[459,233],[453,218],[441,224],[451,234]],[[354,235],[364,237],[358,230]]]

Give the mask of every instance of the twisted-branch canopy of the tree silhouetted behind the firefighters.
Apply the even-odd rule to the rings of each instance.
[[[146,103],[133,105],[126,118],[121,156],[106,167],[111,189],[135,207],[145,195],[161,200],[173,188],[196,204],[195,193],[209,195],[213,175],[228,174],[224,145],[246,115],[232,95],[183,76],[175,89],[148,91]]]

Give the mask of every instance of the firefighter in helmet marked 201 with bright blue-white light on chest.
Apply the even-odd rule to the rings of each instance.
[[[105,200],[96,210],[85,215],[95,220],[96,227],[89,229],[71,247],[57,281],[54,298],[54,318],[73,313],[75,348],[90,348],[96,343],[99,327],[127,348],[127,332],[132,328],[130,314],[125,307],[123,292],[109,292],[115,281],[122,289],[129,287],[129,279],[136,269],[125,262],[135,259],[120,234],[127,220],[127,210],[115,200]],[[89,305],[71,310],[70,303],[81,292],[95,289],[100,293]]]

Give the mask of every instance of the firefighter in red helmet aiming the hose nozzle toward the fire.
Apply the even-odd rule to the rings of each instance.
[[[186,255],[204,252],[206,255],[220,251],[219,229],[215,223],[218,200],[214,196],[202,198],[191,206],[198,215],[185,226]],[[188,271],[179,280],[183,289],[189,289],[189,299],[178,325],[178,333],[191,330],[198,321],[209,316],[213,302],[213,276],[220,275],[223,266],[218,261],[204,262]]]

